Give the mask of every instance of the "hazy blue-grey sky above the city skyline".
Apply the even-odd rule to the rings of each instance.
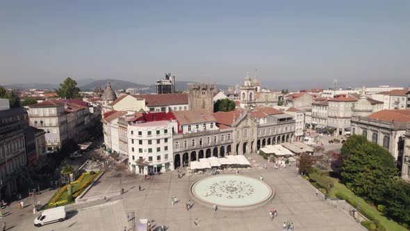
[[[408,86],[410,1],[0,1],[0,84]]]

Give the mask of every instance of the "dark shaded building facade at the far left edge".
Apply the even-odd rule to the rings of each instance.
[[[25,135],[28,128],[28,115],[24,108],[10,109],[7,102],[1,102],[0,110],[0,197],[10,197],[22,186],[20,173],[27,165],[26,139],[30,143],[31,136]],[[1,199],[0,198],[0,199]]]

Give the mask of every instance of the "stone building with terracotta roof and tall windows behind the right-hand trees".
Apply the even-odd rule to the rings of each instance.
[[[352,134],[386,148],[402,164],[404,134],[410,127],[410,110],[382,110],[366,117],[352,118]]]

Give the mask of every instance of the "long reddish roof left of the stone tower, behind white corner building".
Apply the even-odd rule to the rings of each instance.
[[[133,95],[145,99],[147,106],[188,104],[188,93]]]

